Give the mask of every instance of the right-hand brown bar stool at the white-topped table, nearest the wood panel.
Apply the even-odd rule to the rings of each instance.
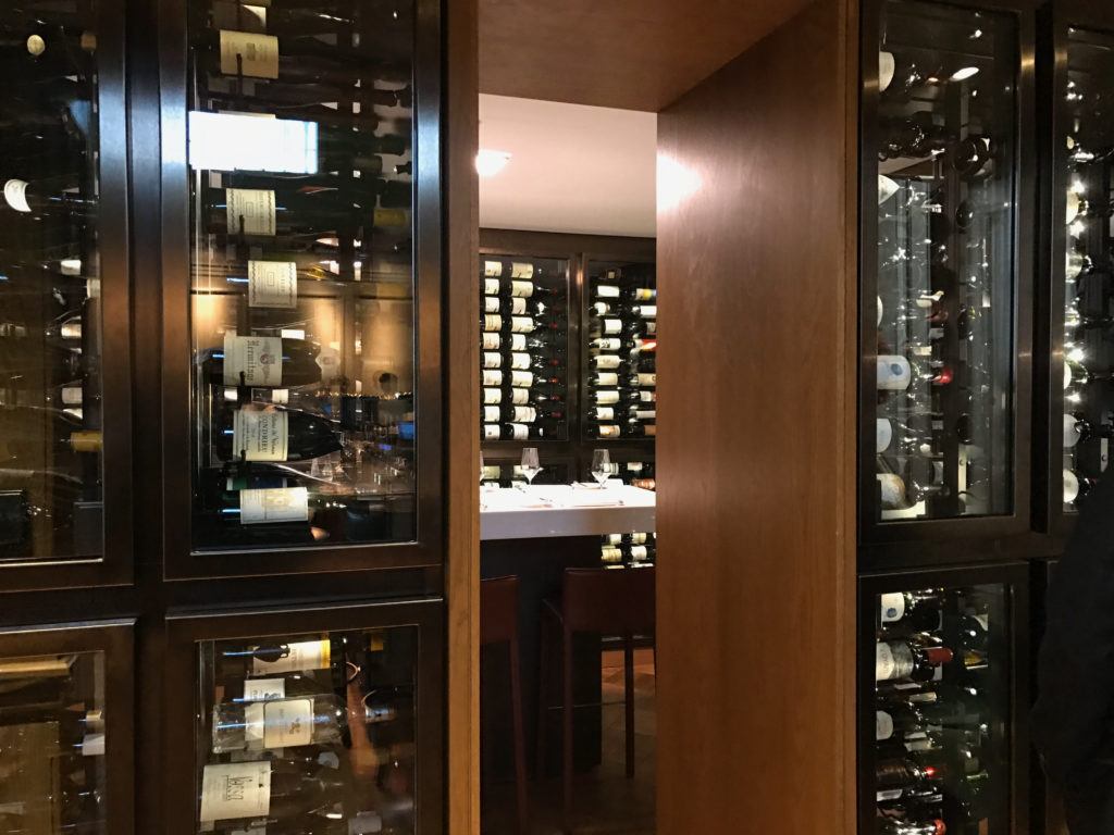
[[[573,811],[573,636],[577,632],[623,638],[624,700],[626,714],[626,776],[634,776],[634,636],[653,638],[655,628],[653,567],[633,569],[565,570],[559,599],[541,608],[541,682],[538,698],[538,775],[545,773],[546,711],[549,701],[550,654],[561,647],[561,778],[565,832]]]

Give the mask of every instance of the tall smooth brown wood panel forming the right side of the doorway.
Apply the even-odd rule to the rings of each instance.
[[[851,14],[659,118],[661,832],[854,832]]]

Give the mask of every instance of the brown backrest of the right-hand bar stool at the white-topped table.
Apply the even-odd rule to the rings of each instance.
[[[643,568],[565,569],[561,611],[574,632],[653,635],[654,572]]]

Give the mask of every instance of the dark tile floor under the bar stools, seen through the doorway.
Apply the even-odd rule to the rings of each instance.
[[[635,656],[635,776],[624,774],[623,654],[603,656],[603,763],[574,783],[576,835],[653,835],[654,763],[657,729],[654,711],[654,660],[649,650]],[[560,832],[560,779],[530,782],[528,835]],[[515,787],[485,787],[483,835],[515,835]]]

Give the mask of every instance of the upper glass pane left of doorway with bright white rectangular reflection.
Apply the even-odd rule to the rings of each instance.
[[[414,538],[413,40],[189,3],[197,549]]]

